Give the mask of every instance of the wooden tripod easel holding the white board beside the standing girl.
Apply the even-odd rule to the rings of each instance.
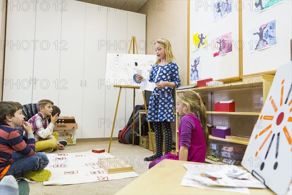
[[[129,50],[128,50],[128,54],[131,51],[132,43],[133,43],[133,54],[135,54],[135,48],[136,48],[136,51],[137,51],[137,54],[138,54],[137,41],[136,41],[136,37],[135,36],[132,36],[132,38],[131,38],[131,43],[130,43],[130,47],[129,47]],[[113,118],[113,124],[112,124],[111,134],[110,134],[110,145],[111,145],[111,140],[112,140],[114,125],[115,125],[115,121],[116,121],[116,117],[117,117],[117,112],[118,112],[118,107],[119,107],[119,101],[120,101],[120,96],[121,96],[122,88],[128,88],[128,89],[133,89],[134,90],[133,91],[133,124],[135,123],[135,95],[136,95],[135,89],[140,89],[140,86],[131,86],[131,85],[113,85],[113,86],[114,87],[119,87],[120,90],[119,90],[119,96],[118,96],[118,100],[117,100],[116,110],[115,110],[115,114],[114,114],[114,118]],[[147,116],[148,115],[148,110],[147,110],[147,106],[146,106],[146,99],[145,99],[144,91],[142,91],[142,95],[143,95],[143,100],[144,100],[144,105],[145,105],[146,116]],[[152,152],[154,154],[154,146],[153,146],[153,140],[152,140],[152,137],[151,137],[150,123],[149,122],[147,122],[147,123],[148,123],[148,129],[149,129],[149,132],[150,132],[149,144],[151,143],[151,145],[152,145]],[[132,145],[134,145],[134,136],[136,134],[136,132],[135,132],[135,125],[133,125],[132,132],[133,132],[133,135],[132,135],[133,136],[132,137]],[[108,153],[110,153],[110,145],[109,145]]]

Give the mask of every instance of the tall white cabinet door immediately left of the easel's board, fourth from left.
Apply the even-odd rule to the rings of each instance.
[[[107,7],[86,3],[82,138],[104,137]]]

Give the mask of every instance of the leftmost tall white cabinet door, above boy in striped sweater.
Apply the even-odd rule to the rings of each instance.
[[[36,1],[8,0],[3,100],[32,102]]]

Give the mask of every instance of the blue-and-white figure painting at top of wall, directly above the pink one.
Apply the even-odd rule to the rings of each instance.
[[[232,12],[232,0],[219,0],[214,4],[214,21]]]

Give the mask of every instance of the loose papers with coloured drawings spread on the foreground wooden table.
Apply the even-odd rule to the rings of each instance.
[[[183,164],[187,169],[182,186],[249,194],[248,188],[266,188],[246,170],[234,165]]]

